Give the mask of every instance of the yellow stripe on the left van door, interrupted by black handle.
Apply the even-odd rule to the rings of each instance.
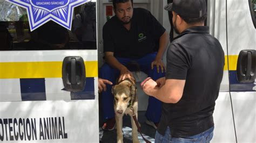
[[[85,61],[86,77],[98,76],[98,61]],[[59,78],[62,62],[1,62],[0,78]]]

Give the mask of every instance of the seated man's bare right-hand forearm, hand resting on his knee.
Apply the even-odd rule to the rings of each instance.
[[[165,31],[161,37],[159,38],[159,49],[157,52],[156,59],[151,63],[151,68],[153,69],[153,66],[157,66],[157,72],[159,73],[159,67],[161,68],[161,71],[164,72],[164,63],[162,61],[162,57],[164,55],[164,52],[167,48],[167,44],[169,42],[169,35]]]

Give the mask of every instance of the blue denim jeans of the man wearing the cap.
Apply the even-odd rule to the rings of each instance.
[[[161,143],[181,143],[181,142],[210,142],[210,140],[213,137],[213,130],[214,127],[209,128],[208,130],[204,131],[203,133],[199,133],[196,135],[193,135],[191,137],[186,138],[172,138],[171,136],[171,130],[170,127],[167,127],[165,131],[165,135],[161,135],[160,133],[156,132],[155,142],[161,142]]]

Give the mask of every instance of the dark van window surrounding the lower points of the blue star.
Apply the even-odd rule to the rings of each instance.
[[[73,11],[71,30],[53,22],[30,31],[26,9],[0,1],[0,51],[97,49],[96,2]]]

